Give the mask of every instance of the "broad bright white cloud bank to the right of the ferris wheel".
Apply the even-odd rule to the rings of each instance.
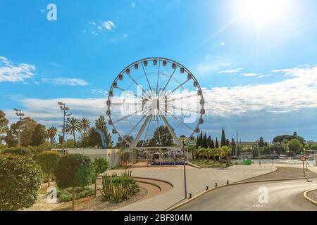
[[[204,91],[206,112],[228,117],[254,112],[288,113],[317,108],[317,66],[275,70],[282,82],[212,88]]]

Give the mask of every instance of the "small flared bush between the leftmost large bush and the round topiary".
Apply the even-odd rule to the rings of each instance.
[[[37,163],[41,166],[42,171],[47,175],[48,183],[50,183],[51,173],[55,168],[58,160],[61,158],[61,153],[54,151],[45,151],[37,156]],[[50,186],[50,184],[48,184]]]

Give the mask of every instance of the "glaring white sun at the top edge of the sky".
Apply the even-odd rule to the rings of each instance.
[[[274,20],[285,8],[282,0],[240,0],[238,10],[244,18],[254,23],[266,23]]]

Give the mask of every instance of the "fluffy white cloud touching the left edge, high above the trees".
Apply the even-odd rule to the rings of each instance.
[[[4,56],[0,56],[0,82],[25,82],[34,76],[34,65],[20,63],[15,65]]]

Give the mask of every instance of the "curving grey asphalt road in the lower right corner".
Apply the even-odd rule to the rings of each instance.
[[[220,188],[180,207],[178,211],[317,211],[317,206],[304,199],[304,192],[317,188],[317,179],[240,184]],[[259,203],[259,188],[266,187],[268,203]],[[263,188],[262,188],[263,189]],[[266,192],[266,191],[264,191]],[[260,198],[266,200],[265,197]]]

